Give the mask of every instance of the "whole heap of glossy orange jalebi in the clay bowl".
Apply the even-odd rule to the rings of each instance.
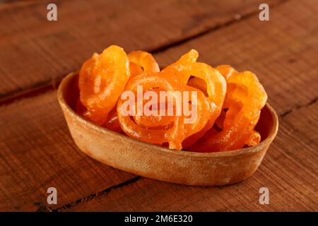
[[[175,150],[257,145],[261,136],[254,127],[267,100],[257,76],[228,65],[213,69],[198,56],[192,49],[160,71],[148,52],[126,55],[110,46],[83,64],[76,111],[107,129]]]

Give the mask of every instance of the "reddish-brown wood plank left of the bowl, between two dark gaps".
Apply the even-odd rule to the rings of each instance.
[[[0,118],[0,210],[45,209],[50,186],[58,208],[135,177],[76,148],[55,91],[3,106]]]

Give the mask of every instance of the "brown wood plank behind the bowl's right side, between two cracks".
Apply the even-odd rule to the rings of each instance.
[[[197,49],[199,60],[230,64],[257,74],[269,102],[283,114],[318,97],[318,2],[288,1],[270,9],[270,20],[251,16],[156,54],[160,65]]]

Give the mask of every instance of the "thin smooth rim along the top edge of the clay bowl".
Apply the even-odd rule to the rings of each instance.
[[[240,149],[235,149],[235,150],[227,150],[227,151],[220,151],[220,152],[212,152],[212,153],[196,153],[196,152],[192,152],[192,151],[179,151],[179,150],[171,150],[169,148],[164,148],[161,147],[159,145],[154,145],[151,143],[146,143],[143,141],[139,141],[136,140],[135,138],[131,138],[129,136],[126,136],[124,134],[121,133],[117,133],[115,131],[112,131],[110,129],[106,129],[102,126],[98,126],[96,124],[93,124],[93,122],[88,121],[87,119],[84,119],[83,117],[81,117],[81,115],[77,114],[75,111],[73,111],[73,109],[71,109],[71,107],[66,103],[66,100],[64,99],[64,91],[67,88],[67,85],[69,83],[69,81],[71,81],[72,78],[78,76],[78,72],[79,71],[73,71],[71,73],[69,73],[67,76],[65,76],[61,83],[59,84],[59,88],[57,89],[57,99],[59,101],[59,105],[61,105],[61,107],[66,110],[71,117],[75,118],[76,120],[80,121],[81,124],[90,127],[90,129],[93,129],[94,131],[98,131],[101,133],[110,133],[113,136],[120,136],[123,139],[126,139],[128,141],[133,141],[136,143],[139,143],[140,145],[145,146],[145,148],[152,148],[154,150],[158,150],[161,151],[163,153],[167,153],[170,155],[179,155],[179,156],[183,156],[183,157],[195,157],[195,158],[204,158],[206,159],[206,157],[228,157],[228,156],[235,156],[235,155],[242,155],[242,154],[248,154],[248,153],[256,153],[261,151],[264,145],[266,145],[266,143],[271,143],[273,141],[273,138],[275,138],[277,131],[278,131],[278,115],[276,114],[275,110],[273,109],[273,107],[271,107],[271,105],[269,105],[268,102],[266,102],[266,105],[264,107],[267,107],[269,109],[269,112],[271,114],[271,117],[273,118],[273,127],[271,129],[271,131],[269,132],[269,135],[263,140],[261,141],[259,144],[248,147],[248,148],[240,148]]]

